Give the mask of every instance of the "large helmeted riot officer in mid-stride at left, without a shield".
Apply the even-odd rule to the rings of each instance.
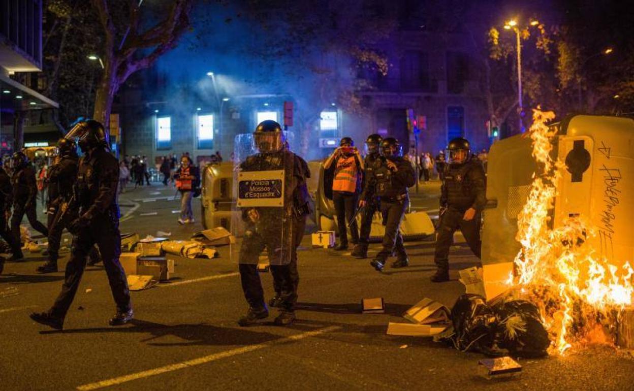
[[[79,147],[85,154],[79,160],[74,194],[68,205],[70,210],[79,209],[79,217],[68,225],[68,230],[75,235],[74,243],[66,265],[65,281],[55,304],[47,312],[34,312],[30,317],[38,323],[61,330],[84,273],[86,257],[96,243],[117,304],[117,313],[110,319],[110,325],[126,324],[134,313],[126,274],[119,263],[119,164],[108,150],[108,133],[100,122],[79,122],[65,138],[78,139]]]

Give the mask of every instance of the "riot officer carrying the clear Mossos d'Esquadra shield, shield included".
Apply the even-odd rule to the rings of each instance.
[[[306,186],[310,173],[306,162],[288,150],[277,122],[263,121],[252,135],[236,136],[236,148],[249,145],[240,141],[241,136],[248,136],[242,140],[252,138],[253,148],[235,153],[239,164],[234,182],[236,206],[245,225],[238,262],[242,290],[249,303],[247,314],[238,324],[249,326],[268,317],[257,271],[264,250],[276,291],[271,304],[280,309],[275,324],[291,324],[295,320],[299,284],[297,247],[310,213]],[[248,156],[243,158],[245,154]],[[232,224],[232,229],[237,225]]]

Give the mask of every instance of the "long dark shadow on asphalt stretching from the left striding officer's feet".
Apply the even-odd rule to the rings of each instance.
[[[99,327],[70,330],[40,331],[41,335],[49,334],[84,334],[84,333],[150,333],[152,337],[139,342],[148,342],[152,346],[191,346],[191,345],[256,345],[284,338],[282,335],[252,331],[252,328],[230,328],[213,326],[211,324],[161,324],[134,319],[127,327]],[[161,337],[178,337],[184,342],[161,343],[152,342]]]

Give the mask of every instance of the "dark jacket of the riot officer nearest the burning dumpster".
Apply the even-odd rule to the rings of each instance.
[[[444,170],[440,206],[464,212],[474,208],[481,212],[486,205],[486,176],[482,163],[472,158],[462,165],[449,164]]]

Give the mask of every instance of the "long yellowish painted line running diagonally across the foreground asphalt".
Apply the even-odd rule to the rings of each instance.
[[[198,357],[197,359],[177,362],[176,364],[170,364],[170,365],[162,366],[159,368],[148,369],[147,371],[131,373],[130,375],[119,376],[118,378],[112,378],[108,380],[97,381],[96,383],[81,385],[77,387],[77,390],[79,391],[97,390],[99,388],[110,387],[112,385],[126,383],[127,381],[133,381],[133,380],[138,380],[142,378],[148,378],[150,376],[160,375],[161,373],[178,371],[178,369],[191,368],[193,366],[206,364],[207,362],[218,361],[227,357],[238,356],[240,354],[253,352],[254,350],[271,347],[273,345],[280,345],[282,343],[303,340],[304,338],[316,337],[317,335],[329,333],[330,331],[339,330],[340,328],[341,328],[340,326],[328,326],[327,328],[322,328],[321,330],[307,331],[306,333],[292,335],[290,337],[281,338],[280,340],[276,340],[269,343],[258,343],[257,345],[249,345],[249,346],[240,347],[238,349],[226,350],[225,352],[214,353],[214,354],[210,354],[209,356]]]

